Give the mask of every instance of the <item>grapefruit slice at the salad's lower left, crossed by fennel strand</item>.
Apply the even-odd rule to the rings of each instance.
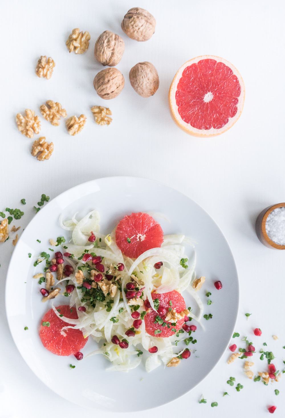
[[[68,305],[57,306],[57,310],[63,316],[67,316],[70,319],[77,319],[76,308],[70,308]],[[50,323],[50,326],[43,326],[43,323]],[[45,324],[46,325],[46,324]],[[42,318],[40,326],[40,339],[42,344],[57,356],[70,356],[80,351],[86,344],[87,338],[83,338],[83,334],[80,329],[65,329],[64,326],[69,326],[67,322],[58,318],[53,309],[47,311]],[[72,325],[73,326],[73,325]]]

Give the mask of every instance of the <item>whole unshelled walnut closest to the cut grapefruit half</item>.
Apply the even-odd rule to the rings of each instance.
[[[133,89],[142,97],[153,96],[158,89],[158,72],[155,66],[148,61],[135,64],[130,69],[129,77]]]

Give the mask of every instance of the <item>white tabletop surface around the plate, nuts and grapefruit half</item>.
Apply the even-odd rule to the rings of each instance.
[[[124,14],[137,5],[149,10],[157,21],[155,34],[143,43],[129,39],[120,28]],[[241,288],[236,330],[241,337],[252,338],[256,349],[266,341],[281,370],[285,357],[285,254],[260,244],[254,223],[263,208],[285,200],[284,12],[284,3],[277,0],[140,0],[140,4],[129,0],[37,0],[1,1],[0,16],[0,210],[23,208],[25,215],[16,222],[23,228],[33,217],[32,206],[42,193],[52,198],[71,186],[103,176],[153,178],[182,191],[213,216],[232,247]],[[65,46],[75,27],[91,35],[88,51],[78,56],[68,54]],[[100,99],[92,83],[102,69],[93,48],[105,30],[118,33],[125,41],[125,54],[117,66],[125,77],[125,88],[110,101]],[[168,110],[168,89],[175,72],[188,59],[203,54],[231,61],[246,87],[240,120],[227,133],[208,140],[179,130]],[[50,80],[35,75],[40,55],[55,60]],[[139,61],[152,62],[160,76],[158,92],[148,99],[138,96],[128,80],[130,68]],[[47,99],[59,101],[69,116],[87,115],[87,123],[79,135],[71,137],[63,122],[53,127],[41,117],[40,134],[53,141],[55,150],[49,161],[39,162],[30,155],[32,140],[18,132],[15,115],[25,108],[40,115],[38,108]],[[92,120],[90,107],[95,104],[110,107],[110,126],[100,127]],[[22,198],[26,206],[21,206]],[[110,204],[115,204],[112,196]],[[68,404],[32,374],[10,336],[4,288],[12,250],[11,240],[0,245],[0,416],[83,416],[90,411]],[[18,278],[20,275],[19,265]],[[245,312],[252,313],[248,321]],[[253,336],[256,326],[263,330],[260,338]],[[272,334],[279,336],[277,342]],[[166,417],[265,417],[267,406],[277,405],[275,416],[283,416],[284,375],[284,381],[268,387],[254,383],[243,376],[240,360],[226,364],[228,353],[191,393],[153,413]],[[258,354],[254,361],[255,373],[264,370],[266,364],[258,360]],[[229,376],[244,385],[240,393],[226,384]],[[163,385],[179,382],[153,384],[159,396]],[[275,388],[280,390],[279,396],[275,396]],[[115,390],[111,382],[110,390]],[[134,390],[140,390],[139,382]],[[225,390],[230,396],[223,398]],[[205,405],[198,404],[202,393],[208,400]],[[126,394],[126,402],[128,396],[131,394]],[[212,401],[218,402],[218,408],[210,407]],[[142,404],[145,402],[142,398]],[[144,417],[145,413],[136,415]]]

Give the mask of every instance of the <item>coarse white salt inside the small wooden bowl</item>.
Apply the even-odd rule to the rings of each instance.
[[[285,245],[285,206],[274,209],[265,223],[266,233],[275,244]]]

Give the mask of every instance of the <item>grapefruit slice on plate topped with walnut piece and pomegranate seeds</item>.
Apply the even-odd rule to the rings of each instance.
[[[174,308],[176,312],[180,313],[186,308],[183,296],[176,290],[167,293],[152,293],[153,300],[159,300],[159,306],[162,306],[168,312],[168,308]],[[171,305],[171,303],[172,305]],[[150,312],[145,315],[145,331],[155,337],[170,337],[179,331],[184,324],[184,318],[178,319],[176,325],[171,325],[170,322],[166,322],[166,325],[160,325],[155,322],[155,318],[158,314],[150,308]],[[163,318],[162,318],[163,319]],[[169,326],[168,326],[169,325]],[[175,329],[175,331],[173,331]],[[156,330],[161,332],[155,332]]]

